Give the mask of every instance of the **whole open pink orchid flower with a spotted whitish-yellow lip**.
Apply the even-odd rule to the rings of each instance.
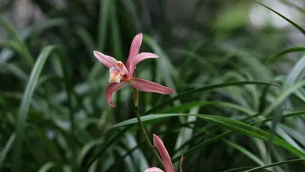
[[[133,77],[134,70],[139,62],[145,59],[157,58],[158,56],[153,53],[139,53],[142,44],[142,33],[137,34],[130,47],[129,56],[126,62],[126,66],[123,62],[117,61],[115,58],[104,55],[98,51],[94,51],[95,57],[109,68],[109,79],[111,83],[107,90],[106,96],[108,104],[115,107],[112,102],[112,95],[121,89],[127,82],[132,87],[143,92],[153,92],[160,94],[173,94],[174,91],[170,88],[164,87],[155,82],[151,82],[145,79]]]

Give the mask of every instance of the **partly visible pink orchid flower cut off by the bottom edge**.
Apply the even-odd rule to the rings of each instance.
[[[174,167],[173,167],[173,164],[171,163],[170,156],[169,156],[162,140],[157,135],[154,135],[154,145],[156,146],[156,148],[159,151],[159,154],[163,161],[163,166],[164,166],[165,171],[163,171],[162,169],[157,168],[157,167],[152,167],[152,168],[147,168],[144,172],[174,172]],[[184,157],[182,155],[181,160],[180,160],[180,172],[182,172],[183,160],[184,160]]]

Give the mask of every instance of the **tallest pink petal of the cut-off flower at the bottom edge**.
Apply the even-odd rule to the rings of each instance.
[[[163,161],[163,166],[166,172],[174,172],[173,164],[171,163],[170,156],[162,142],[162,140],[154,134],[154,145],[159,151],[161,159]]]

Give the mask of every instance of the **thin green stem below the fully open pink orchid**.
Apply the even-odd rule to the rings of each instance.
[[[138,90],[135,89],[135,88],[133,88],[133,90],[134,90],[135,113],[136,113],[136,117],[137,117],[137,120],[138,120],[138,125],[139,125],[139,128],[140,128],[140,131],[141,131],[141,133],[144,137],[144,140],[145,140],[147,146],[151,149],[151,151],[153,151],[153,153],[156,156],[160,165],[163,166],[163,162],[162,162],[158,152],[154,149],[153,144],[151,144],[151,142],[149,141],[149,138],[148,138],[147,133],[145,131],[144,125],[141,121],[140,112],[139,112],[140,107],[139,107],[139,93],[138,93]]]

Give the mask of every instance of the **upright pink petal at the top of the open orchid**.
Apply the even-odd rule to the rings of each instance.
[[[137,34],[134,39],[132,40],[131,46],[130,46],[130,51],[129,51],[129,56],[126,61],[126,66],[128,71],[130,71],[130,64],[133,61],[134,57],[139,54],[140,47],[142,44],[142,33]],[[132,75],[132,73],[130,73]]]

